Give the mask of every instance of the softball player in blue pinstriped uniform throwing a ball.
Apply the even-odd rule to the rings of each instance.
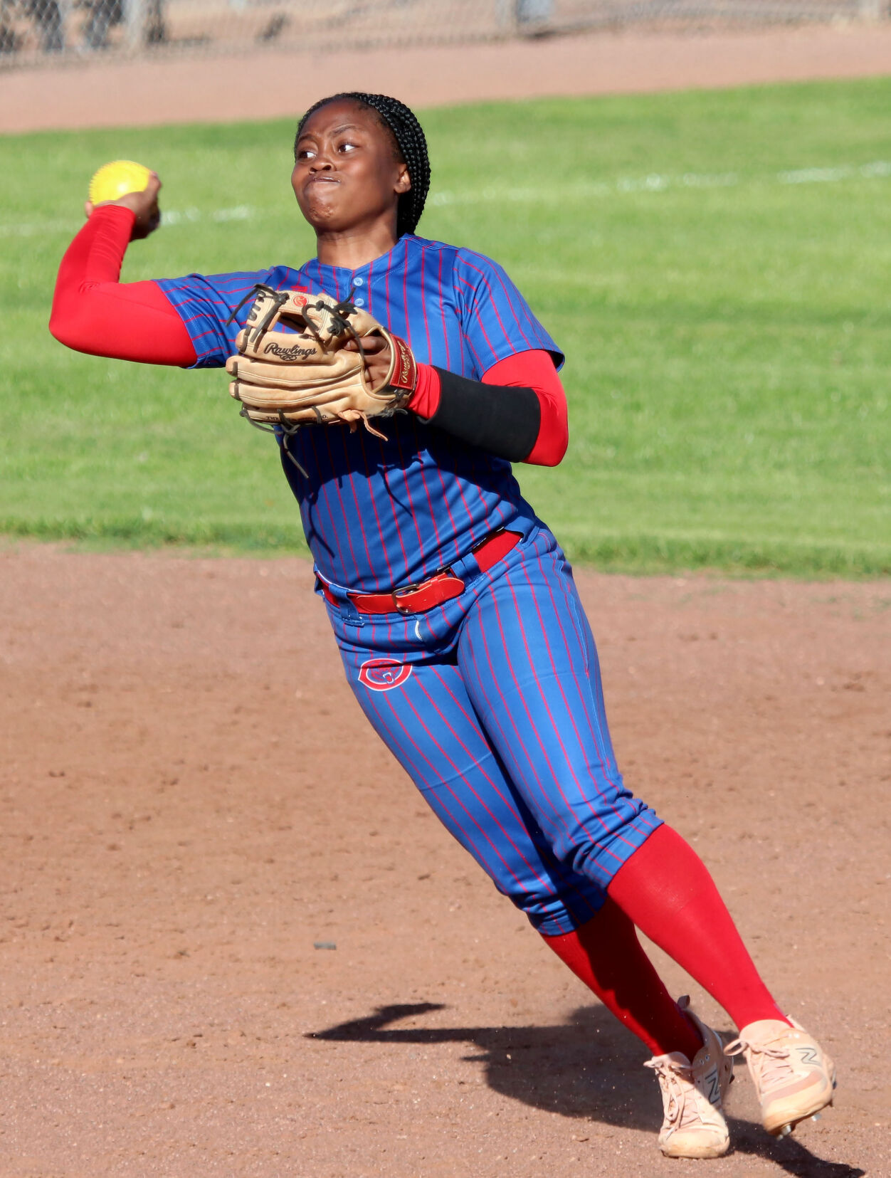
[[[127,243],[158,224],[153,177],[87,205],[51,330],[94,355],[222,366],[263,283],[349,296],[407,342],[417,384],[385,439],[318,424],[283,448],[350,686],[442,822],[653,1053],[662,1152],[719,1157],[730,1055],[636,928],[741,1028],[727,1052],[746,1055],[768,1132],[830,1104],[834,1068],[777,1007],[695,852],[622,782],[572,570],[510,469],[563,456],[562,355],[499,265],[415,234],[429,176],[401,102],[323,99],[291,176],[315,258],[120,284]],[[377,379],[388,346],[369,355]]]

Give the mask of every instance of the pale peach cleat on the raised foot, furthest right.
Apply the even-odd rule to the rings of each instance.
[[[746,1057],[764,1127],[773,1137],[786,1137],[832,1104],[836,1066],[798,1023],[750,1023],[724,1050]]]

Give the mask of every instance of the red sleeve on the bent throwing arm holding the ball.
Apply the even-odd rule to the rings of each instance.
[[[134,214],[97,209],[68,246],[55,280],[50,331],[67,348],[143,364],[194,364],[185,324],[157,283],[120,283]]]

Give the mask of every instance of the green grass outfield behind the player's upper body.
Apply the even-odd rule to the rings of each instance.
[[[568,352],[569,454],[519,472],[575,558],[891,571],[889,110],[891,79],[423,115],[420,231],[502,262]],[[0,531],[302,549],[275,443],[224,375],[79,356],[46,330],[108,159],[157,168],[173,214],[125,280],[303,262],[292,133],[0,138]]]

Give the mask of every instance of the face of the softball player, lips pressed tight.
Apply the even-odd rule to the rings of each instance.
[[[301,212],[317,233],[344,233],[392,221],[411,183],[389,131],[374,111],[329,102],[309,119],[291,173]]]

